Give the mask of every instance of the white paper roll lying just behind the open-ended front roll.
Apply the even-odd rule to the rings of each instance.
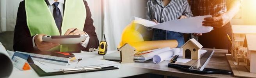
[[[171,48],[169,48],[169,47],[161,48],[161,49],[159,49],[159,50],[152,51],[152,52],[149,53],[146,57],[147,57],[147,58],[153,58],[154,55],[157,55],[157,54],[159,54],[159,53],[163,53],[163,52],[169,51],[169,50],[171,50]]]

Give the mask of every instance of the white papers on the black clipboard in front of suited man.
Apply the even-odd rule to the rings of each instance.
[[[110,66],[116,66],[116,62],[108,61],[108,60],[98,60],[93,58],[86,58],[86,57],[78,57],[82,58],[78,64],[76,62],[71,62],[68,66],[62,66],[47,62],[40,62],[40,61],[34,61],[35,64],[40,67],[44,72],[46,73],[52,73],[52,72],[59,72],[62,71],[62,69],[71,69],[71,68],[77,68],[77,67],[89,67],[89,66],[101,66],[101,67],[110,67]]]

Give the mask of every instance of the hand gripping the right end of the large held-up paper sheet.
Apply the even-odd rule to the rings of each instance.
[[[203,26],[210,26],[220,28],[231,21],[232,17],[227,13],[220,13],[213,16],[213,18],[204,18]]]

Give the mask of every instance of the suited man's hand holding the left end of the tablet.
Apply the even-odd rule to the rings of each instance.
[[[59,46],[59,43],[50,43],[50,42],[43,42],[42,37],[46,36],[45,34],[38,34],[34,37],[35,44],[40,51],[50,50],[55,46]]]

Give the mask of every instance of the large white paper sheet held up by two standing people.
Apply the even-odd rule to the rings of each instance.
[[[153,21],[144,20],[135,17],[134,22],[150,28],[158,28],[162,30],[181,32],[181,33],[207,33],[213,30],[213,27],[205,27],[202,25],[204,18],[211,18],[212,16],[196,16],[191,18],[184,18],[178,20],[167,21],[156,24]]]

